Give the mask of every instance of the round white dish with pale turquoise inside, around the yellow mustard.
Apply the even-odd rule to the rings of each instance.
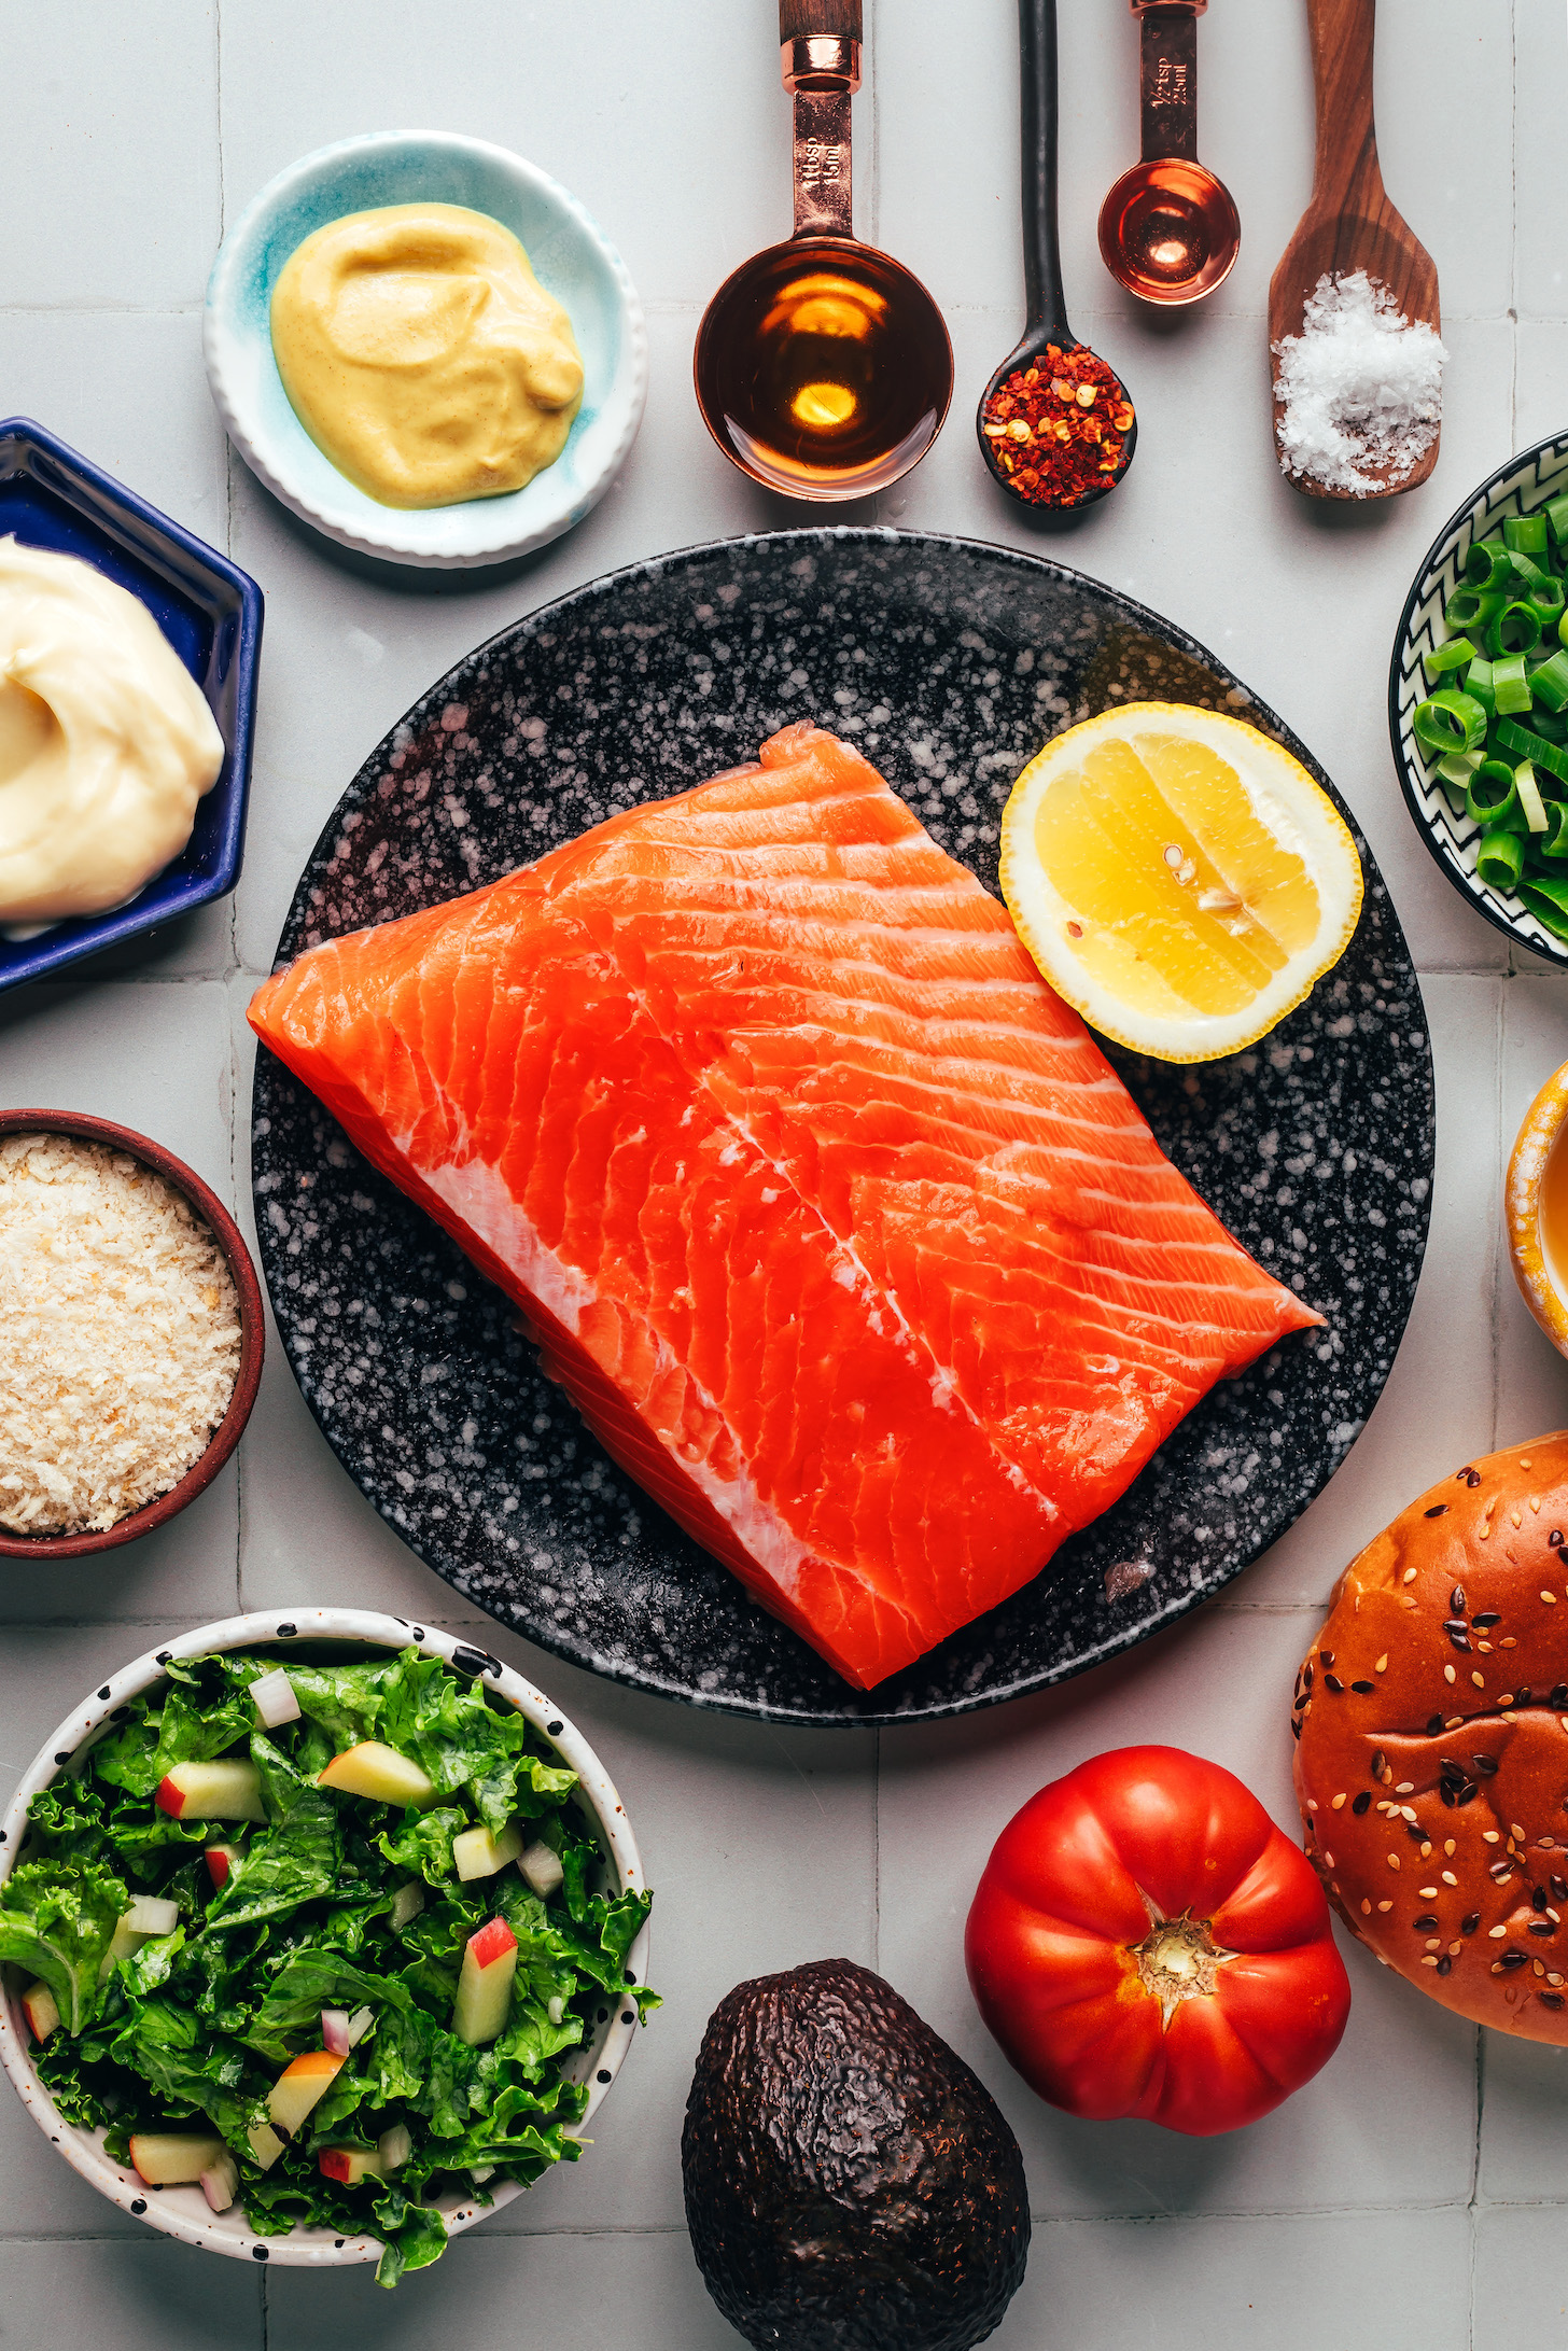
[[[555,465],[527,489],[463,505],[378,505],[322,456],[289,407],[270,331],[282,266],[327,221],[381,205],[487,212],[567,306],[583,353],[583,407]],[[456,132],[341,139],[268,181],[212,266],[202,350],[219,416],[275,498],[346,548],[437,571],[527,555],[581,522],[621,473],[649,386],[642,303],[602,228],[548,172]]]

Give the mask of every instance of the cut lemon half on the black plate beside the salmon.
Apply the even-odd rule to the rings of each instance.
[[[1361,858],[1300,759],[1187,703],[1124,703],[1030,759],[1001,896],[1091,1027],[1159,1060],[1255,1044],[1345,955]]]

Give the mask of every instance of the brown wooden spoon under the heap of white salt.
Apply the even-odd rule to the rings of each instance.
[[[1403,315],[1415,324],[1427,320],[1441,329],[1436,306],[1436,263],[1410,226],[1394,212],[1378,167],[1378,129],[1373,125],[1373,16],[1375,0],[1307,0],[1312,33],[1312,85],[1316,92],[1316,155],[1312,162],[1312,202],[1284,249],[1269,282],[1269,383],[1274,381],[1274,343],[1302,331],[1302,310],[1319,277],[1345,277],[1366,270],[1389,289]],[[1274,447],[1284,421],[1274,400]],[[1436,465],[1439,435],[1396,482],[1382,475],[1380,489],[1356,496],[1331,489],[1300,473],[1288,480],[1307,498],[1345,498],[1366,505],[1415,489]],[[1281,449],[1284,465],[1284,449]]]

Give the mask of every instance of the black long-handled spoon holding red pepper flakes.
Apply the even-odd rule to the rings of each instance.
[[[1138,418],[1133,416],[1126,430],[1114,435],[1121,447],[1114,473],[1095,475],[1091,487],[1070,496],[1030,496],[1027,484],[1039,473],[1032,463],[1034,451],[1039,449],[1046,465],[1051,461],[1051,442],[1044,437],[1046,423],[1039,426],[1034,437],[1030,433],[1013,433],[1013,426],[1023,426],[1025,418],[1009,416],[1001,421],[992,409],[997,395],[1011,397],[1006,393],[1009,376],[1027,376],[1032,367],[1039,369],[1039,383],[1065,383],[1067,379],[1048,357],[1051,350],[1070,355],[1088,350],[1088,346],[1079,343],[1077,334],[1067,324],[1063,252],[1056,233],[1056,0],[1018,0],[1018,42],[1023,63],[1025,329],[1018,348],[1006,355],[997,374],[980,393],[976,433],[992,475],[1006,491],[1011,491],[1013,498],[1018,498],[1020,505],[1027,505],[1032,513],[1060,515],[1077,513],[1084,505],[1095,505],[1098,498],[1105,498],[1117,487],[1126,468],[1133,463],[1133,449],[1138,447]],[[1088,353],[1088,357],[1098,357],[1098,353]],[[1100,367],[1105,364],[1107,362],[1100,360]],[[1032,390],[1037,388],[1039,386]],[[1126,397],[1121,379],[1117,376],[1114,393],[1105,390],[1103,397],[1095,395],[1093,404],[1098,409],[1114,409],[1121,402],[1126,402],[1128,409],[1133,404]],[[997,426],[1001,426],[1001,430],[997,430]]]

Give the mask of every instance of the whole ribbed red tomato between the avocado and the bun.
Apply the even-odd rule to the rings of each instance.
[[[1041,1787],[997,1838],[964,1956],[1023,2078],[1091,2121],[1255,2123],[1349,2015],[1309,1862],[1180,1747],[1119,1747]]]

